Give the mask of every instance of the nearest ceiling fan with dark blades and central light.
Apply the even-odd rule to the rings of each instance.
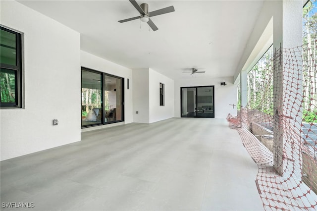
[[[141,5],[139,5],[135,0],[129,0],[129,1],[140,12],[141,15],[133,17],[133,18],[119,20],[118,22],[124,23],[124,22],[130,21],[130,20],[141,19],[142,22],[147,22],[153,31],[156,31],[159,28],[153,23],[153,21],[150,19],[150,17],[162,15],[165,13],[175,11],[174,6],[168,6],[168,7],[162,8],[162,9],[158,9],[158,10],[149,12],[149,5],[147,3],[142,3]]]

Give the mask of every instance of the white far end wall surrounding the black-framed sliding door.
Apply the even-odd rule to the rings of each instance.
[[[225,78],[188,78],[175,81],[175,117],[180,117],[180,88],[191,86],[214,86],[214,113],[215,118],[226,118],[230,113],[237,115],[237,85],[232,84],[232,77]],[[226,86],[220,86],[220,82],[225,82]]]

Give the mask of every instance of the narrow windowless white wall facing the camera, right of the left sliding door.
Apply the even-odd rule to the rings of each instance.
[[[150,123],[149,68],[133,69],[132,84],[133,122]]]

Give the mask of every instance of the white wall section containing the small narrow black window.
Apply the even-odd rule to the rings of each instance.
[[[174,81],[149,69],[150,123],[174,117]],[[164,106],[159,106],[159,83],[164,84]]]

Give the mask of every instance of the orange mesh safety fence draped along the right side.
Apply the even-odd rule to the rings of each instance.
[[[260,60],[247,106],[227,116],[259,166],[265,210],[317,210],[316,55],[317,41]]]

